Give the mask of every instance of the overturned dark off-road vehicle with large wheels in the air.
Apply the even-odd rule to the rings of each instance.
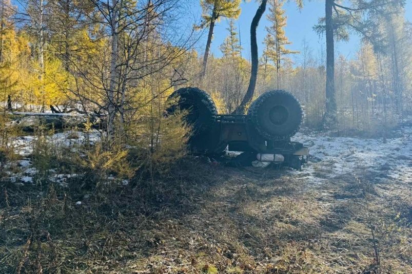
[[[222,155],[243,152],[242,161],[273,161],[297,170],[309,150],[293,142],[303,120],[299,101],[283,90],[266,92],[253,101],[247,115],[219,115],[212,98],[198,88],[182,88],[169,97],[168,113],[185,111],[192,127],[189,149],[194,154]]]

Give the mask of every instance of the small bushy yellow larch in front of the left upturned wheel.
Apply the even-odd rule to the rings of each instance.
[[[170,103],[167,98],[173,91],[161,72],[145,77],[139,90],[129,89],[130,101],[138,111],[125,119],[128,143],[142,149],[139,157],[146,158],[151,167],[163,169],[186,154],[189,129],[183,115],[165,115]]]

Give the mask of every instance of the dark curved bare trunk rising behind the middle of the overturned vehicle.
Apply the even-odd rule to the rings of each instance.
[[[262,18],[263,13],[266,10],[267,0],[262,0],[256,14],[253,17],[252,24],[250,25],[250,49],[252,54],[252,70],[250,74],[249,87],[247,88],[245,97],[243,97],[240,106],[234,111],[236,114],[243,114],[245,112],[246,104],[249,103],[254,94],[254,89],[256,88],[256,81],[258,78],[259,70],[259,55],[258,55],[258,42],[256,38],[256,30],[259,25],[259,21]]]

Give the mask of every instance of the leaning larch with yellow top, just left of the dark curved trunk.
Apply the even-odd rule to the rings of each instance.
[[[203,55],[202,77],[206,74],[207,60],[213,38],[214,26],[221,17],[237,18],[240,13],[241,0],[201,0],[203,21],[199,28],[209,28],[205,53]]]

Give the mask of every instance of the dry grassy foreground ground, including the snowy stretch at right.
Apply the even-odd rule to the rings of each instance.
[[[104,201],[7,185],[0,272],[412,273],[411,134],[303,131],[302,172],[189,158]]]

